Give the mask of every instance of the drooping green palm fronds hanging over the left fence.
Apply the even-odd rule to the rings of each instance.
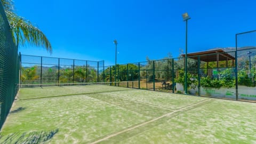
[[[43,32],[33,24],[15,14],[14,3],[12,0],[1,0],[4,11],[11,27],[13,42],[18,46],[24,46],[26,43],[45,47],[47,51],[52,52],[52,46]]]

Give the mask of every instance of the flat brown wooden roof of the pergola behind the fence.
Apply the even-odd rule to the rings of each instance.
[[[185,57],[185,54],[181,54],[182,57]],[[198,59],[200,56],[200,61],[211,62],[211,61],[226,61],[226,60],[235,60],[233,55],[227,53],[223,49],[212,49],[209,51],[193,52],[188,53],[187,57],[190,59]]]

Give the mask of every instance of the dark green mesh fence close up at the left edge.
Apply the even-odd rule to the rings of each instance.
[[[20,56],[0,1],[0,128],[19,90]]]

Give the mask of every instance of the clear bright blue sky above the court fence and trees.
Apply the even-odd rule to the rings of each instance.
[[[20,47],[22,54],[115,63],[162,59],[185,50],[188,12],[188,52],[234,47],[235,34],[256,29],[255,0],[216,1],[14,1],[17,13],[49,38],[53,53],[42,47]]]

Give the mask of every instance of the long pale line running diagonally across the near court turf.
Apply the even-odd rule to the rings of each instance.
[[[189,108],[189,107],[192,107],[192,106],[196,106],[196,105],[199,105],[199,104],[201,104],[201,103],[203,103],[203,102],[210,101],[210,100],[212,100],[212,99],[206,99],[206,100],[203,100],[203,101],[194,103],[193,105],[189,105],[189,106],[187,106],[187,107],[180,108],[180,109],[178,109],[178,110],[172,111],[171,113],[168,113],[168,114],[159,116],[159,117],[157,117],[157,118],[155,118],[155,119],[151,119],[151,120],[148,121],[148,122],[145,122],[145,123],[136,125],[136,126],[134,126],[134,127],[131,127],[131,128],[129,128],[129,129],[126,129],[126,130],[123,130],[123,131],[121,131],[121,132],[117,132],[117,133],[111,134],[111,135],[109,135],[108,137],[105,137],[105,138],[99,139],[99,140],[97,140],[97,141],[94,141],[94,142],[92,142],[91,144],[99,143],[99,142],[101,142],[101,141],[104,141],[104,140],[107,140],[107,139],[109,139],[109,138],[115,137],[116,135],[119,135],[119,134],[121,134],[121,133],[124,133],[124,132],[130,131],[130,130],[136,129],[137,127],[146,125],[146,124],[148,124],[148,123],[155,122],[155,121],[157,121],[158,119],[161,119],[161,118],[163,118],[163,117],[172,115],[172,114],[177,113],[178,111],[181,111],[181,110],[183,110],[183,109],[186,109],[186,108]]]

